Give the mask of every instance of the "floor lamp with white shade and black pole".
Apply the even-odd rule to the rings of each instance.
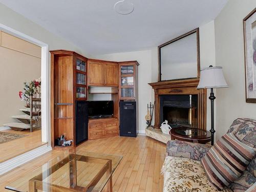
[[[226,80],[224,78],[222,67],[212,67],[204,68],[200,73],[200,81],[197,89],[210,89],[210,109],[211,109],[211,145],[214,145],[214,100],[216,97],[214,96],[215,88],[228,88]]]

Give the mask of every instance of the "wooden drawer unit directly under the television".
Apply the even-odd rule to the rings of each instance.
[[[88,139],[100,139],[119,135],[118,118],[89,119]]]

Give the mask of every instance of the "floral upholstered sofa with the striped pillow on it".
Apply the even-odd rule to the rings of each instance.
[[[256,121],[239,118],[233,121],[228,133],[233,133],[241,142],[256,150]],[[201,159],[209,151],[210,145],[179,140],[167,142],[166,158],[163,164],[164,192],[175,191],[219,191],[207,179]],[[222,191],[251,190],[256,182],[256,156],[249,163],[242,176]],[[254,184],[254,185],[253,185]],[[252,186],[253,185],[253,186]]]

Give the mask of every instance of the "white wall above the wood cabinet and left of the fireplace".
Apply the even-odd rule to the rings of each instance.
[[[138,88],[139,88],[139,133],[145,133],[145,115],[147,103],[152,101],[152,87],[147,83],[152,82],[151,66],[152,51],[136,51],[126,53],[114,53],[94,56],[94,58],[112,60],[112,61],[129,61],[137,60],[138,69]]]

